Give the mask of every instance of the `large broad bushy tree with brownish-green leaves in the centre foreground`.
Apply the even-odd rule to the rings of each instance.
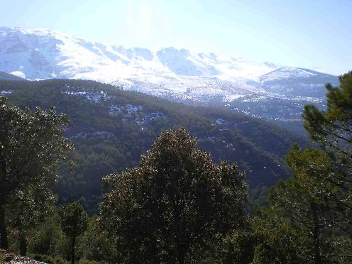
[[[137,168],[103,179],[114,188],[100,206],[100,226],[115,239],[120,261],[190,262],[216,234],[240,221],[245,174],[216,165],[180,128],[165,131]]]

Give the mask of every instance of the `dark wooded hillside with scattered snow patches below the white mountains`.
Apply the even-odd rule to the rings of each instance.
[[[138,165],[165,129],[186,127],[215,162],[238,162],[252,186],[287,178],[282,158],[293,143],[308,143],[283,128],[215,108],[187,106],[109,84],[82,80],[0,81],[0,91],[21,108],[56,106],[71,120],[65,137],[75,143],[76,167],[59,169],[55,192],[60,202],[83,197],[95,212],[101,201],[101,178]]]

